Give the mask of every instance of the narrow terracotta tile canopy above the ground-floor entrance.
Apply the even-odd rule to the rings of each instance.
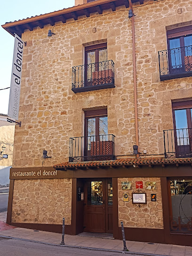
[[[162,164],[185,164],[192,163],[192,158],[120,158],[109,161],[88,161],[88,162],[64,162],[54,165],[54,168],[75,168],[75,167],[96,167],[107,165],[162,165]]]

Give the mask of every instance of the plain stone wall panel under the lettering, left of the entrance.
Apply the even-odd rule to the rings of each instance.
[[[72,179],[15,180],[13,223],[71,225]]]

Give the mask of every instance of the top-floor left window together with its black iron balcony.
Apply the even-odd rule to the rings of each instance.
[[[85,47],[85,65],[72,68],[72,91],[113,88],[114,63],[107,60],[107,43]]]

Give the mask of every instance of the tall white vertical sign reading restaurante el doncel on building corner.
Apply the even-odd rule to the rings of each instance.
[[[13,66],[11,73],[11,85],[8,103],[8,116],[18,120],[19,99],[21,89],[21,72],[23,63],[24,41],[15,34],[13,53]]]

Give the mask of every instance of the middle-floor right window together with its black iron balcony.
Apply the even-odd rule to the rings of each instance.
[[[192,100],[173,102],[173,130],[164,131],[165,157],[192,157]]]

